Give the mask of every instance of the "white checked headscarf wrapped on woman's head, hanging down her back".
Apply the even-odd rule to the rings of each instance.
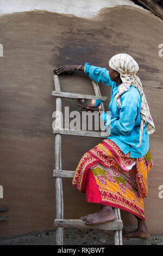
[[[151,117],[151,113],[149,111],[148,103],[146,100],[146,96],[143,93],[142,83],[138,76],[136,76],[137,71],[139,70],[139,65],[135,62],[135,60],[126,53],[119,53],[113,56],[109,60],[109,66],[111,69],[119,72],[122,84],[118,88],[118,93],[115,95],[115,100],[117,102],[118,107],[121,106],[120,97],[124,92],[127,92],[130,86],[135,86],[141,95],[141,124],[140,124],[140,138],[139,145],[141,146],[142,142],[142,133],[143,127],[147,121],[146,131],[151,134],[155,131],[154,123]]]

